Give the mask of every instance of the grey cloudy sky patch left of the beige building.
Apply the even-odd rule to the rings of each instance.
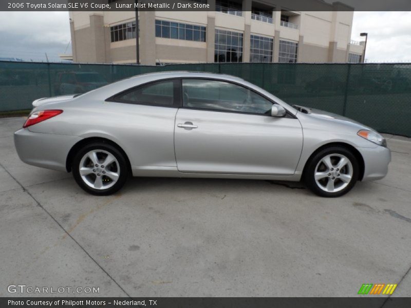
[[[59,60],[70,42],[68,12],[0,12],[0,42],[0,57]]]

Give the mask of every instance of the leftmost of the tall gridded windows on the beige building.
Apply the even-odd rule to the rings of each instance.
[[[214,62],[242,62],[242,33],[215,30]]]

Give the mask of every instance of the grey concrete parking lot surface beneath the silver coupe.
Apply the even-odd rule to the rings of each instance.
[[[411,141],[386,135],[388,176],[326,199],[290,182],[133,178],[86,194],[14,149],[0,119],[0,296],[8,285],[99,287],[52,296],[411,296]],[[72,291],[70,291],[72,292]],[[382,295],[381,295],[382,296]]]

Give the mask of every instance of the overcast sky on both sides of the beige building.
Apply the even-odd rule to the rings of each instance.
[[[411,12],[355,12],[352,40],[368,32],[370,62],[411,62]],[[0,57],[58,60],[71,53],[68,12],[0,12]]]

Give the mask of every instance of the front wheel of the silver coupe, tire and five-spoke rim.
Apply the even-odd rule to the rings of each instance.
[[[321,197],[340,197],[356,184],[359,165],[345,147],[331,146],[315,153],[304,171],[306,185]]]

